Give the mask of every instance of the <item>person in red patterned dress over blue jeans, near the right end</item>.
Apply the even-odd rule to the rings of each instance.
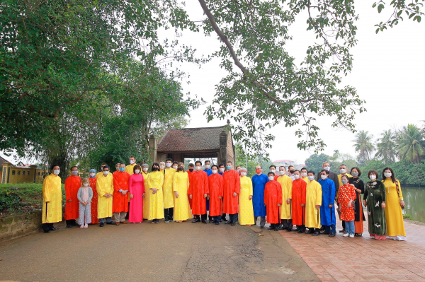
[[[344,237],[354,237],[354,210],[353,201],[356,200],[356,190],[351,184],[348,184],[348,176],[342,175],[342,186],[339,187],[338,203],[341,208],[341,221],[346,222],[346,233]]]

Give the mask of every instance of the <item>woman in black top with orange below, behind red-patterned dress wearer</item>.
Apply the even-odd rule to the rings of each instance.
[[[361,237],[363,233],[363,221],[365,221],[365,215],[363,213],[363,206],[361,204],[361,195],[365,192],[365,184],[360,179],[361,171],[360,168],[353,167],[350,170],[351,177],[348,178],[348,183],[356,190],[356,200],[354,201],[354,229],[356,230],[354,236]]]

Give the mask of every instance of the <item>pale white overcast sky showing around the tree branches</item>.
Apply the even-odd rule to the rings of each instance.
[[[202,20],[203,11],[198,1],[188,3],[192,20]],[[356,129],[367,130],[375,138],[384,129],[402,127],[408,123],[421,124],[424,115],[424,77],[425,77],[425,25],[405,20],[396,28],[375,34],[375,24],[385,20],[387,14],[380,15],[372,8],[373,1],[356,1],[356,11],[360,15],[358,26],[358,45],[352,49],[354,58],[353,71],[343,84],[357,89],[361,99],[366,100],[368,112],[356,116]],[[386,8],[389,12],[389,8]],[[385,9],[384,9],[385,11]],[[307,46],[312,44],[315,36],[305,31],[305,18],[298,18],[297,23],[290,28],[293,41],[288,43],[288,52],[296,58],[296,62],[305,57]],[[184,33],[183,40],[198,49],[198,54],[210,53],[220,47],[220,41],[215,36],[204,37],[202,34]],[[185,71],[190,74],[191,84],[183,84],[183,89],[191,94],[197,94],[208,102],[215,95],[215,84],[227,73],[220,69],[219,61],[212,61],[197,66],[185,64]],[[422,86],[422,87],[421,87]],[[205,107],[191,113],[188,127],[220,126],[225,121],[214,120],[207,124],[203,114]],[[354,134],[345,129],[332,129],[331,118],[320,118],[320,137],[327,144],[323,153],[332,155],[334,150],[340,153],[350,153],[353,149]],[[276,136],[273,148],[269,150],[271,160],[290,159],[304,163],[312,151],[300,151],[294,132],[298,129],[285,128],[283,124],[274,127],[269,132]]]

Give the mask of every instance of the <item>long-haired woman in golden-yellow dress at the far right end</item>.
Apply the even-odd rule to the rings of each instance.
[[[387,237],[393,240],[406,240],[404,230],[403,211],[404,200],[402,186],[395,178],[392,168],[382,170],[382,183],[385,186],[385,218],[387,219]]]

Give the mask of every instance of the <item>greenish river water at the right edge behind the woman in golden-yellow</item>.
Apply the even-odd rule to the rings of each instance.
[[[403,214],[412,216],[412,220],[425,223],[425,188],[402,187],[406,208]]]

